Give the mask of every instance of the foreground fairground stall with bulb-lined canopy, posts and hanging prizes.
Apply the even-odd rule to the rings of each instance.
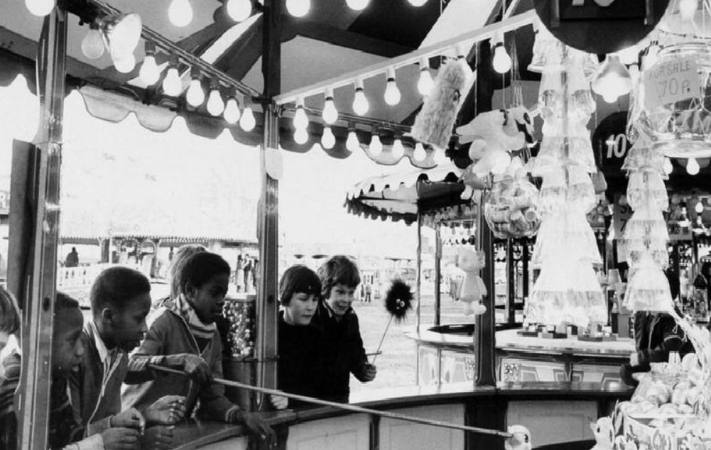
[[[40,104],[38,132],[14,142],[11,163],[7,285],[21,299],[24,320],[20,447],[47,447],[46,331],[57,284],[70,92],[108,121],[131,117],[154,132],[179,125],[200,136],[260,145],[259,210],[245,218],[258,224],[256,305],[230,314],[236,321],[232,353],[248,357],[242,362],[253,376],[218,381],[257,392],[244,404],[263,411],[280,448],[589,448],[593,436],[598,446],[616,450],[666,450],[683,439],[703,445],[709,336],[694,323],[677,316],[700,358],[653,368],[624,406],[614,407],[631,398],[631,387],[575,371],[588,370],[590,352],[579,348],[598,345],[595,358],[609,358],[610,366],[634,350],[613,316],[622,316],[623,308],[675,314],[662,275],[670,239],[665,168],[683,165],[699,173],[711,156],[709,6],[706,0],[6,2],[0,6],[2,85],[21,73]],[[609,221],[609,200],[590,123],[597,128],[602,122],[597,115],[610,109],[604,105],[622,110],[626,103],[623,138],[618,142],[615,134],[604,142],[608,154],[618,155],[624,136],[634,141],[622,152],[620,169],[629,174],[622,205],[634,213],[616,235],[605,231],[601,240],[590,223]],[[19,113],[25,106],[14,108]],[[125,137],[127,147],[140,145]],[[364,152],[383,165],[452,164],[441,179],[454,173],[455,203],[457,196],[467,203],[475,189],[483,191],[479,208],[464,210],[472,213],[471,229],[476,220],[481,251],[472,251],[475,260],[466,264],[484,269],[481,276],[470,270],[464,289],[455,289],[476,317],[474,336],[465,336],[474,373],[464,382],[442,383],[437,374],[432,385],[374,391],[356,404],[268,410],[265,394],[279,392],[282,153],[309,151],[316,141],[340,159]],[[528,149],[533,141],[538,146]],[[480,180],[483,186],[474,185]],[[701,178],[692,183],[699,191],[689,201],[702,230],[705,184]],[[688,208],[679,209],[677,223],[688,228]],[[416,214],[421,223],[423,215]],[[534,377],[520,375],[524,364],[516,360],[500,364],[497,377],[495,239],[507,240],[506,250],[499,248],[512,256],[510,267],[520,252],[515,259],[538,271],[522,269],[528,277],[519,294],[528,300],[518,302],[522,328],[504,331],[515,336],[501,350],[512,360],[518,350],[549,359],[552,381],[535,381],[538,369],[529,371]],[[626,277],[607,270],[613,256],[600,247],[607,250],[610,240],[612,255],[624,254],[631,268]],[[506,269],[499,283],[507,286],[507,323],[517,322],[511,277],[517,270]],[[607,296],[611,285],[625,293],[613,296],[616,307]],[[247,314],[253,314],[251,326],[240,322]],[[702,321],[707,312],[697,315]],[[561,362],[561,353],[571,357]],[[196,419],[178,424],[174,434],[173,445],[181,449],[263,446],[241,427]]]

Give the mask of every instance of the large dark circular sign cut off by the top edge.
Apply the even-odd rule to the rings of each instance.
[[[560,41],[606,55],[645,38],[661,20],[669,0],[534,0],[534,4],[541,22]]]

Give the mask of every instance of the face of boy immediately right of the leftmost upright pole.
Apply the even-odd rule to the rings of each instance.
[[[63,309],[54,317],[52,375],[67,378],[79,368],[84,355],[84,317],[78,308]]]

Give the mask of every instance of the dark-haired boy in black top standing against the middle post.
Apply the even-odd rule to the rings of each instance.
[[[279,282],[279,389],[319,397],[321,333],[311,325],[321,295],[321,280],[303,265],[289,267]],[[299,400],[272,397],[277,409],[306,406]]]

